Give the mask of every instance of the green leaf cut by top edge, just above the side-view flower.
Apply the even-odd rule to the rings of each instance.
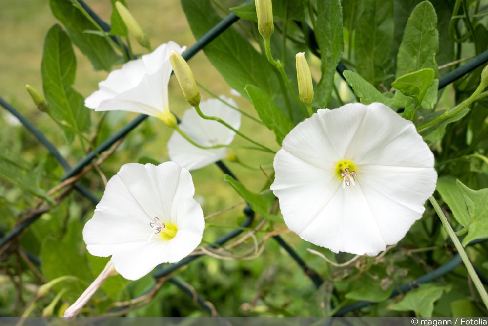
[[[66,27],[73,43],[88,57],[93,69],[110,71],[112,66],[122,62],[106,38],[85,33],[86,30],[98,30],[71,0],[50,0],[51,10],[56,18]]]

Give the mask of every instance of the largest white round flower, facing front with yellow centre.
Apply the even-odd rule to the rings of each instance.
[[[319,109],[285,137],[273,193],[285,223],[333,252],[397,243],[435,189],[434,156],[414,125],[380,103]]]

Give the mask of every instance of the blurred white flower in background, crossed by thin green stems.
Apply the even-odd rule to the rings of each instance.
[[[237,106],[234,100],[224,96],[221,98],[230,105]],[[200,103],[200,109],[203,114],[219,117],[236,130],[241,126],[241,113],[218,99],[203,101]],[[184,112],[179,126],[188,137],[202,146],[229,145],[235,136],[234,131],[217,121],[203,119],[193,108]],[[169,158],[188,170],[200,169],[215,163],[227,157],[228,153],[227,147],[199,148],[184,139],[177,131],[173,131],[168,141]]]

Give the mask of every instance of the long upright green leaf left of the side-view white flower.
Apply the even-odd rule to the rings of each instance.
[[[49,115],[61,126],[68,142],[73,135],[88,130],[90,110],[72,85],[76,58],[68,35],[56,24],[47,32],[41,62],[42,87],[49,103]]]

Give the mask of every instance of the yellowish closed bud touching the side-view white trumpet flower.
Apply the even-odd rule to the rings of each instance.
[[[171,61],[171,65],[173,66],[176,78],[178,79],[178,84],[180,84],[180,87],[183,90],[185,100],[192,107],[199,105],[200,93],[190,66],[186,63],[181,54],[175,50],[171,50],[169,61]]]

